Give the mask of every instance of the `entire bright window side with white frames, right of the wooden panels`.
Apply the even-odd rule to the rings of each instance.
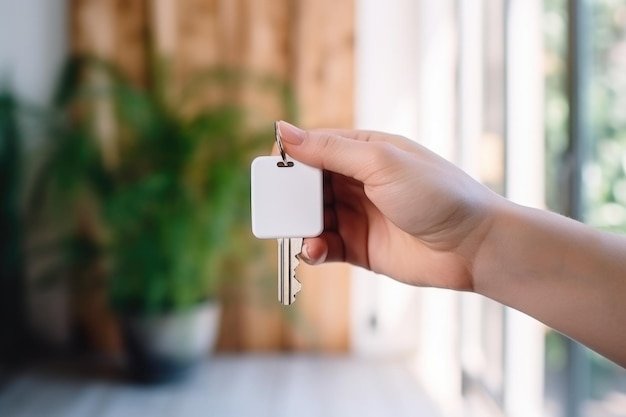
[[[574,8],[583,4],[588,13]],[[361,0],[357,10],[357,126],[416,138],[522,204],[626,232],[623,0]],[[476,393],[510,416],[626,410],[624,370],[528,317],[428,289],[399,308],[392,283],[353,282],[357,351],[411,350],[446,411]],[[381,313],[396,310],[406,314]]]

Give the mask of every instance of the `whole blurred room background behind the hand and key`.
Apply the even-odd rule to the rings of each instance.
[[[0,0],[0,415],[626,416],[626,372],[474,294],[249,227],[273,121],[403,134],[626,232],[619,0]]]

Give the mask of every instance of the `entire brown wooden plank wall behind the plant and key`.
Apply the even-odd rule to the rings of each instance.
[[[76,50],[114,59],[138,82],[147,80],[151,40],[172,59],[177,79],[216,65],[272,74],[294,85],[301,125],[352,126],[354,0],[73,0],[71,21]],[[243,99],[284,117],[255,93]],[[225,306],[220,349],[348,350],[349,269],[301,266],[303,291],[283,308],[275,246],[268,242],[268,262],[248,268],[250,278]]]

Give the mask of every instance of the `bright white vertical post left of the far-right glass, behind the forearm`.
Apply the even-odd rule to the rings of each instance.
[[[544,208],[543,2],[511,0],[507,18],[507,197]],[[542,415],[545,327],[513,309],[506,323],[505,410]]]

